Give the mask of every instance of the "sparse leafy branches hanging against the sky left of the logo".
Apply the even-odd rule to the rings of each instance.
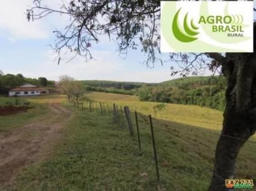
[[[57,42],[53,48],[60,56],[62,50],[70,50],[90,60],[90,48],[104,34],[118,44],[120,54],[126,54],[128,48],[140,48],[148,54],[147,63],[156,61],[155,51],[160,52],[160,1],[74,0],[63,3],[59,9],[43,3],[34,1],[35,6],[27,10],[29,21],[51,13],[70,17],[64,31],[54,31]]]

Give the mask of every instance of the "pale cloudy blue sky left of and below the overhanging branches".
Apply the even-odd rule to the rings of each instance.
[[[61,0],[45,0],[51,6],[58,6]],[[54,44],[53,31],[64,27],[66,18],[60,15],[39,21],[28,22],[26,10],[33,0],[8,0],[0,7],[0,70],[4,74],[23,74],[29,78],[45,77],[58,80],[68,75],[76,80],[116,80],[126,82],[163,82],[171,80],[171,63],[162,66],[156,63],[148,68],[142,62],[146,59],[140,51],[130,51],[126,58],[116,53],[116,44],[103,40],[92,46],[89,62],[81,56],[70,62],[58,60],[49,44]],[[209,72],[208,72],[209,73]],[[206,72],[207,74],[207,72]]]

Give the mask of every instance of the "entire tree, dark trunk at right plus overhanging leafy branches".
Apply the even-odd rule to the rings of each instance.
[[[61,50],[68,49],[89,60],[92,58],[90,47],[100,41],[101,34],[105,34],[114,38],[120,53],[126,54],[129,48],[140,48],[147,54],[146,64],[154,64],[158,60],[160,0],[70,0],[63,1],[60,9],[55,10],[43,5],[43,0],[34,0],[34,5],[27,11],[29,20],[41,19],[51,13],[70,17],[70,23],[64,31],[55,31],[57,43],[54,48],[59,55]],[[255,25],[253,29],[255,41]],[[170,54],[170,60],[180,66],[180,69],[171,68],[173,75],[180,73],[186,76],[191,72],[197,74],[204,68],[216,72],[221,68],[219,72],[227,78],[223,130],[215,150],[213,178],[209,187],[211,191],[227,190],[225,179],[233,177],[237,155],[256,131],[255,47],[253,53]],[[160,61],[162,62],[161,59]],[[154,94],[158,95],[156,92]]]

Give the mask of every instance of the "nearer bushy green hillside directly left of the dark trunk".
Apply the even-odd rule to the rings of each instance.
[[[223,111],[226,80],[223,76],[178,78],[138,90],[141,101],[201,105]]]

